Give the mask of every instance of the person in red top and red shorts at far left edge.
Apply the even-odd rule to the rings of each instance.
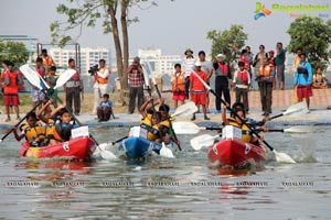
[[[6,107],[7,119],[6,122],[11,121],[10,118],[10,107],[14,107],[17,113],[17,120],[20,120],[20,99],[19,99],[19,88],[18,85],[22,84],[21,77],[14,72],[14,64],[9,61],[2,62],[4,72],[1,75],[1,87],[3,88],[3,106]]]

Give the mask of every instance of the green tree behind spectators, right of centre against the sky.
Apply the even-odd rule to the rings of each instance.
[[[222,53],[228,63],[237,62],[238,53],[234,48],[241,48],[245,45],[247,34],[243,31],[243,25],[232,24],[229,30],[207,32],[207,38],[212,41],[212,57]],[[232,68],[234,68],[232,66]]]

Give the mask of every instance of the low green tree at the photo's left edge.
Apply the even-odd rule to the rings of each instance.
[[[29,59],[29,51],[25,44],[0,40],[0,61],[4,59],[13,62],[17,67],[25,64]]]

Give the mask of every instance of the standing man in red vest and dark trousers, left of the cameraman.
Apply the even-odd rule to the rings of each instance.
[[[76,68],[75,59],[70,58],[68,62],[68,68],[74,69],[76,73],[64,86],[65,91],[65,102],[71,112],[73,112],[73,101],[75,107],[75,114],[79,116],[81,112],[81,78],[79,73]]]

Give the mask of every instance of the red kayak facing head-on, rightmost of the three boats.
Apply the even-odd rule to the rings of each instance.
[[[212,166],[233,168],[260,167],[267,160],[267,152],[263,145],[244,143],[236,139],[222,140],[209,150]]]

